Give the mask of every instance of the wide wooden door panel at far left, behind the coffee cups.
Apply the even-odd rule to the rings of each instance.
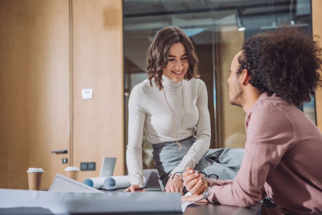
[[[68,14],[68,0],[0,1],[1,188],[28,189],[28,167],[43,188],[63,173],[51,151],[69,146]]]

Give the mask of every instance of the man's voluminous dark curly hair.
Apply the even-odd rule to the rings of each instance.
[[[310,95],[322,85],[322,51],[317,38],[286,26],[251,36],[243,43],[237,75],[247,69],[253,87],[276,93],[296,106],[310,101]]]

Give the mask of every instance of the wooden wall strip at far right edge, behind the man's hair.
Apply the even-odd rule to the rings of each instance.
[[[320,36],[319,42],[322,46],[322,1],[321,0],[312,0],[312,25],[313,25],[313,34]],[[319,88],[316,93],[316,114],[317,114],[317,127],[322,131],[322,89]]]

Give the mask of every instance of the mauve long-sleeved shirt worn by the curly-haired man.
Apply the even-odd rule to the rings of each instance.
[[[263,93],[247,112],[234,180],[211,181],[209,201],[252,207],[265,196],[288,213],[322,212],[322,134],[297,107]],[[220,175],[219,175],[220,179]]]

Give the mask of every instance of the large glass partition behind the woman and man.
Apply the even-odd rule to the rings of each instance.
[[[208,91],[211,148],[244,147],[245,113],[229,103],[229,67],[245,38],[277,25],[295,25],[312,33],[310,0],[123,0],[125,145],[128,98],[147,79],[146,53],[156,33],[180,27],[193,41],[198,70]],[[299,107],[316,122],[315,99]],[[144,168],[154,168],[152,146],[143,138]]]

